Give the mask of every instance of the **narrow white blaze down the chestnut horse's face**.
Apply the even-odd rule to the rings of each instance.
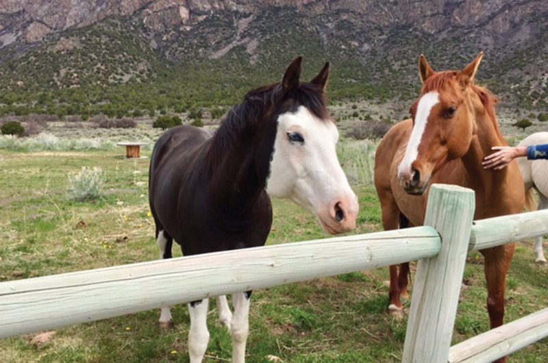
[[[413,130],[406,148],[406,154],[403,156],[403,160],[401,160],[401,164],[398,166],[398,175],[408,175],[409,178],[412,178],[411,166],[416,160],[417,155],[419,155],[419,145],[421,145],[430,111],[432,111],[432,108],[439,102],[439,94],[436,91],[426,93],[419,100],[419,105],[417,105],[416,108]]]

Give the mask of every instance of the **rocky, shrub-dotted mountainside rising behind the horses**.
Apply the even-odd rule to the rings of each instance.
[[[4,103],[23,90],[129,97],[143,84],[167,103],[232,102],[301,54],[310,74],[334,64],[332,98],[408,99],[421,53],[443,69],[484,51],[484,84],[545,110],[547,19],[545,0],[0,0],[0,82]],[[112,101],[101,92],[88,103]]]

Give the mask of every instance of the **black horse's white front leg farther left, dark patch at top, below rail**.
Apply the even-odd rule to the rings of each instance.
[[[209,299],[192,301],[188,304],[190,331],[188,331],[188,355],[190,363],[201,363],[208,349],[210,332],[208,331]]]

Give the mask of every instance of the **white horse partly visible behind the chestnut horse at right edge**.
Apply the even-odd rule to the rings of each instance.
[[[548,132],[537,132],[523,139],[519,146],[529,146],[538,144],[548,144]],[[532,198],[533,189],[538,192],[538,209],[548,208],[548,160],[527,160],[527,158],[518,158],[521,175],[527,190],[527,206],[534,208]],[[543,252],[543,238],[537,237],[535,240],[535,262],[546,263]]]

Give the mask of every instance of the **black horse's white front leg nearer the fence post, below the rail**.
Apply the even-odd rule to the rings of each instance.
[[[249,300],[251,291],[237,292],[232,295],[234,316],[230,322],[232,335],[232,363],[245,362],[245,343],[249,334]]]

